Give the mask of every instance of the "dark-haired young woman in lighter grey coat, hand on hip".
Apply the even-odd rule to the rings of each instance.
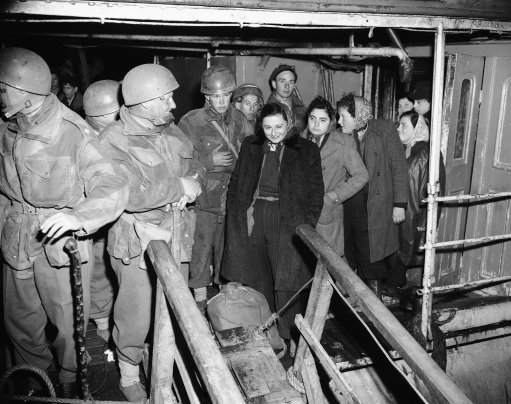
[[[316,97],[305,117],[307,128],[302,136],[319,146],[325,182],[323,210],[316,230],[343,256],[343,202],[367,183],[367,170],[353,136],[335,129],[335,110],[326,99]]]

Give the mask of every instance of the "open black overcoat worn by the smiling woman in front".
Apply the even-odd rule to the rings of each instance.
[[[226,243],[222,276],[248,286],[260,284],[261,274],[251,271],[247,253],[250,237],[247,230],[247,209],[254,192],[264,156],[264,136],[249,136],[241,146],[236,167],[227,192]],[[311,276],[304,257],[310,253],[298,239],[300,224],[316,226],[323,207],[324,185],[318,147],[299,136],[296,129],[284,140],[279,172],[280,234],[274,290],[297,290]]]

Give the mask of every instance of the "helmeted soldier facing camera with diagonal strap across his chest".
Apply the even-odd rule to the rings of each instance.
[[[218,65],[206,69],[201,78],[204,107],[188,112],[179,122],[207,170],[205,191],[196,204],[197,226],[189,280],[202,311],[206,308],[211,265],[214,280],[219,283],[227,186],[241,142],[253,132],[244,115],[230,104],[235,88],[234,75],[228,68]]]

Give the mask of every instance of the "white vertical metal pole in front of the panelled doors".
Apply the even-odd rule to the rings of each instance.
[[[437,237],[437,217],[438,203],[436,197],[440,189],[439,185],[439,167],[440,145],[442,136],[442,98],[444,83],[444,58],[445,58],[445,33],[444,27],[438,24],[438,30],[435,34],[435,58],[433,70],[433,97],[431,107],[431,137],[429,146],[429,178],[428,178],[428,210],[426,222],[426,244],[424,257],[424,274],[422,277],[422,317],[421,331],[427,339],[431,320],[431,306],[433,303],[433,294],[431,293],[431,284],[435,274],[435,247]]]

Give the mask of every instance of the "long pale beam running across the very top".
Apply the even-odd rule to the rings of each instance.
[[[388,8],[382,7],[381,2],[373,1],[370,4],[359,7],[349,7],[346,2],[337,5],[329,2],[301,1],[262,1],[264,7],[253,8],[251,0],[245,1],[240,7],[240,2],[224,2],[220,5],[211,6],[211,2],[198,6],[196,1],[181,0],[180,4],[168,4],[167,2],[147,3],[135,1],[62,1],[62,0],[12,0],[2,5],[0,12],[5,15],[40,15],[54,17],[90,18],[100,23],[109,21],[124,23],[131,21],[139,24],[156,25],[193,25],[193,26],[237,26],[237,27],[314,27],[314,28],[339,28],[339,27],[391,27],[391,28],[419,28],[434,29],[440,23],[445,30],[489,30],[496,32],[511,31],[511,22],[506,12],[509,3],[498,0],[502,6],[494,11],[496,15],[484,15],[485,7],[474,10],[470,7],[464,9],[451,9],[451,17],[446,17],[449,8],[445,2],[437,1],[438,8],[424,10],[424,15],[416,15],[418,12],[417,1],[407,1],[410,15],[403,15],[403,8],[394,3],[393,10],[396,14],[388,13]],[[487,2],[489,0],[486,0]],[[176,2],[177,3],[177,2]],[[401,3],[401,2],[400,2]],[[427,2],[431,3],[431,2]],[[452,3],[452,0],[451,0]],[[421,4],[425,4],[422,2]],[[492,6],[495,8],[495,6]],[[490,8],[492,10],[493,8]],[[378,13],[374,13],[377,10]],[[457,15],[456,12],[458,13]],[[468,17],[459,17],[463,12],[470,14]],[[388,14],[385,14],[388,13]]]

